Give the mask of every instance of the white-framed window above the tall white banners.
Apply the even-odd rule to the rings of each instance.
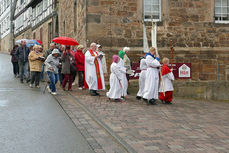
[[[144,20],[161,21],[161,0],[144,0]]]

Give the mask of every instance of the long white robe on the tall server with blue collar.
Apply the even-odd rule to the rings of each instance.
[[[158,99],[158,86],[159,86],[159,69],[160,63],[152,56],[146,56],[146,81],[144,88],[144,99]]]

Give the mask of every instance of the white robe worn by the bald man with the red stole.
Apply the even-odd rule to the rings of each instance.
[[[94,51],[95,56],[97,56],[96,52]],[[99,70],[100,70],[100,77],[102,81],[102,89],[105,90],[105,82],[103,76],[103,68],[102,68],[102,61],[100,58],[97,58],[99,63]],[[85,54],[85,81],[90,90],[98,90],[98,81],[96,75],[96,68],[95,68],[95,57],[91,55],[89,51]]]

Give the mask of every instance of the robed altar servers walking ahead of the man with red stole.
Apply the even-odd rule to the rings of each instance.
[[[131,67],[125,66],[123,55],[126,56],[125,51],[120,51],[119,56],[113,55],[113,63],[110,68],[110,90],[107,92],[107,96],[116,101],[122,101],[127,94],[128,77],[126,77],[126,73],[131,70]],[[125,58],[130,61],[128,57]],[[156,100],[159,98],[164,104],[172,104],[174,75],[168,67],[169,59],[163,58],[162,63],[161,67],[159,56],[156,56],[156,49],[153,47],[141,59],[137,100],[143,99],[148,104],[157,105]]]

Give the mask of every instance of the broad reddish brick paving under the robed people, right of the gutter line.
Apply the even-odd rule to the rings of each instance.
[[[134,96],[116,103],[109,102],[105,92],[91,97],[87,90],[75,89],[71,94],[136,152],[229,152],[228,103],[176,99],[173,105],[149,106]],[[68,109],[80,117],[71,107],[74,103],[70,100]]]

